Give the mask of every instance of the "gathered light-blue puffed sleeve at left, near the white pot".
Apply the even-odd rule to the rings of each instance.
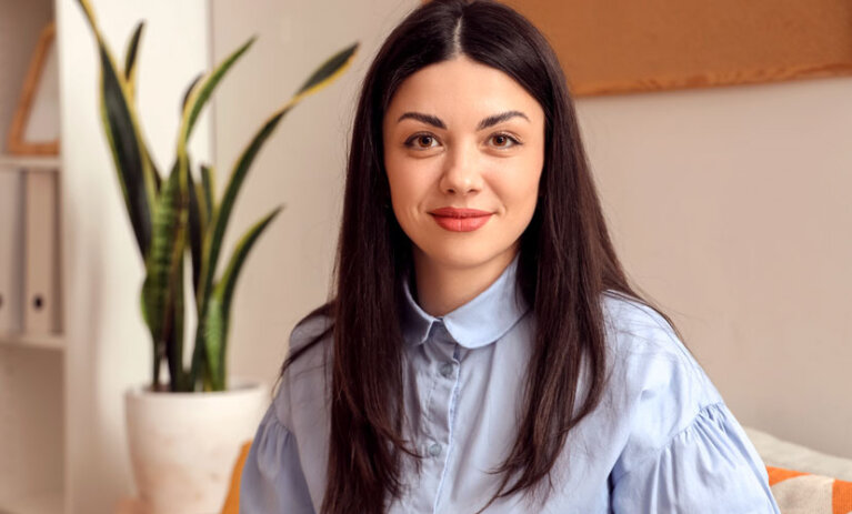
[[[270,405],[242,468],[240,514],[313,514],[295,437]]]

